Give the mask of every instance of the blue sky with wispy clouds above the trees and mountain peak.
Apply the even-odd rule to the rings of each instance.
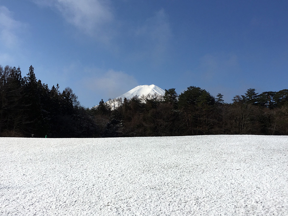
[[[0,64],[85,107],[137,85],[288,88],[288,1],[0,0]]]

